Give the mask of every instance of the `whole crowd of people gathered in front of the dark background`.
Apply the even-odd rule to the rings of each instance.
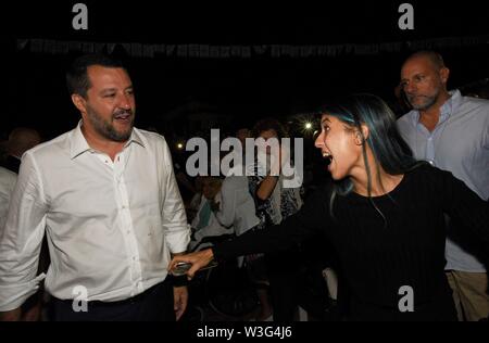
[[[0,147],[0,319],[183,320],[212,261],[246,270],[252,320],[298,320],[311,265],[338,275],[337,320],[487,319],[489,101],[449,91],[449,76],[418,51],[400,68],[405,114],[365,93],[318,109],[327,170],[291,187],[301,156],[279,119],[239,128],[220,158],[231,168],[192,178],[134,126],[124,65],[76,59],[78,125],[47,142],[16,128]],[[252,161],[251,138],[265,142]]]

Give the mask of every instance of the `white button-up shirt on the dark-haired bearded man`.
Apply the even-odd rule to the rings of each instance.
[[[190,239],[165,139],[134,129],[114,161],[91,149],[80,124],[27,151],[0,237],[0,310],[35,293],[41,240],[58,298],[118,301],[166,278]],[[80,288],[82,287],[82,288]]]

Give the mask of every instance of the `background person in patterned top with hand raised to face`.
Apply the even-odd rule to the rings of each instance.
[[[299,188],[284,187],[281,164],[285,163],[288,152],[281,144],[281,139],[287,137],[284,126],[275,118],[259,120],[253,127],[254,138],[262,138],[267,147],[258,149],[253,173],[248,177],[250,193],[255,201],[256,216],[260,224],[256,230],[265,229],[280,224],[284,219],[294,214],[302,206]],[[276,140],[278,154],[274,152],[273,141]],[[263,164],[266,161],[265,165]],[[275,162],[274,162],[275,161]],[[268,163],[269,162],[269,163]],[[277,168],[276,168],[277,167]],[[250,168],[250,166],[247,166]],[[274,170],[275,169],[275,170]],[[255,270],[256,280],[269,282],[269,297],[273,308],[274,321],[293,320],[298,310],[298,246],[287,253],[269,253],[264,256],[250,255],[247,261]],[[266,289],[265,289],[266,290]],[[264,291],[265,291],[264,290]],[[260,296],[262,308],[265,295]],[[271,320],[262,313],[256,320]]]

